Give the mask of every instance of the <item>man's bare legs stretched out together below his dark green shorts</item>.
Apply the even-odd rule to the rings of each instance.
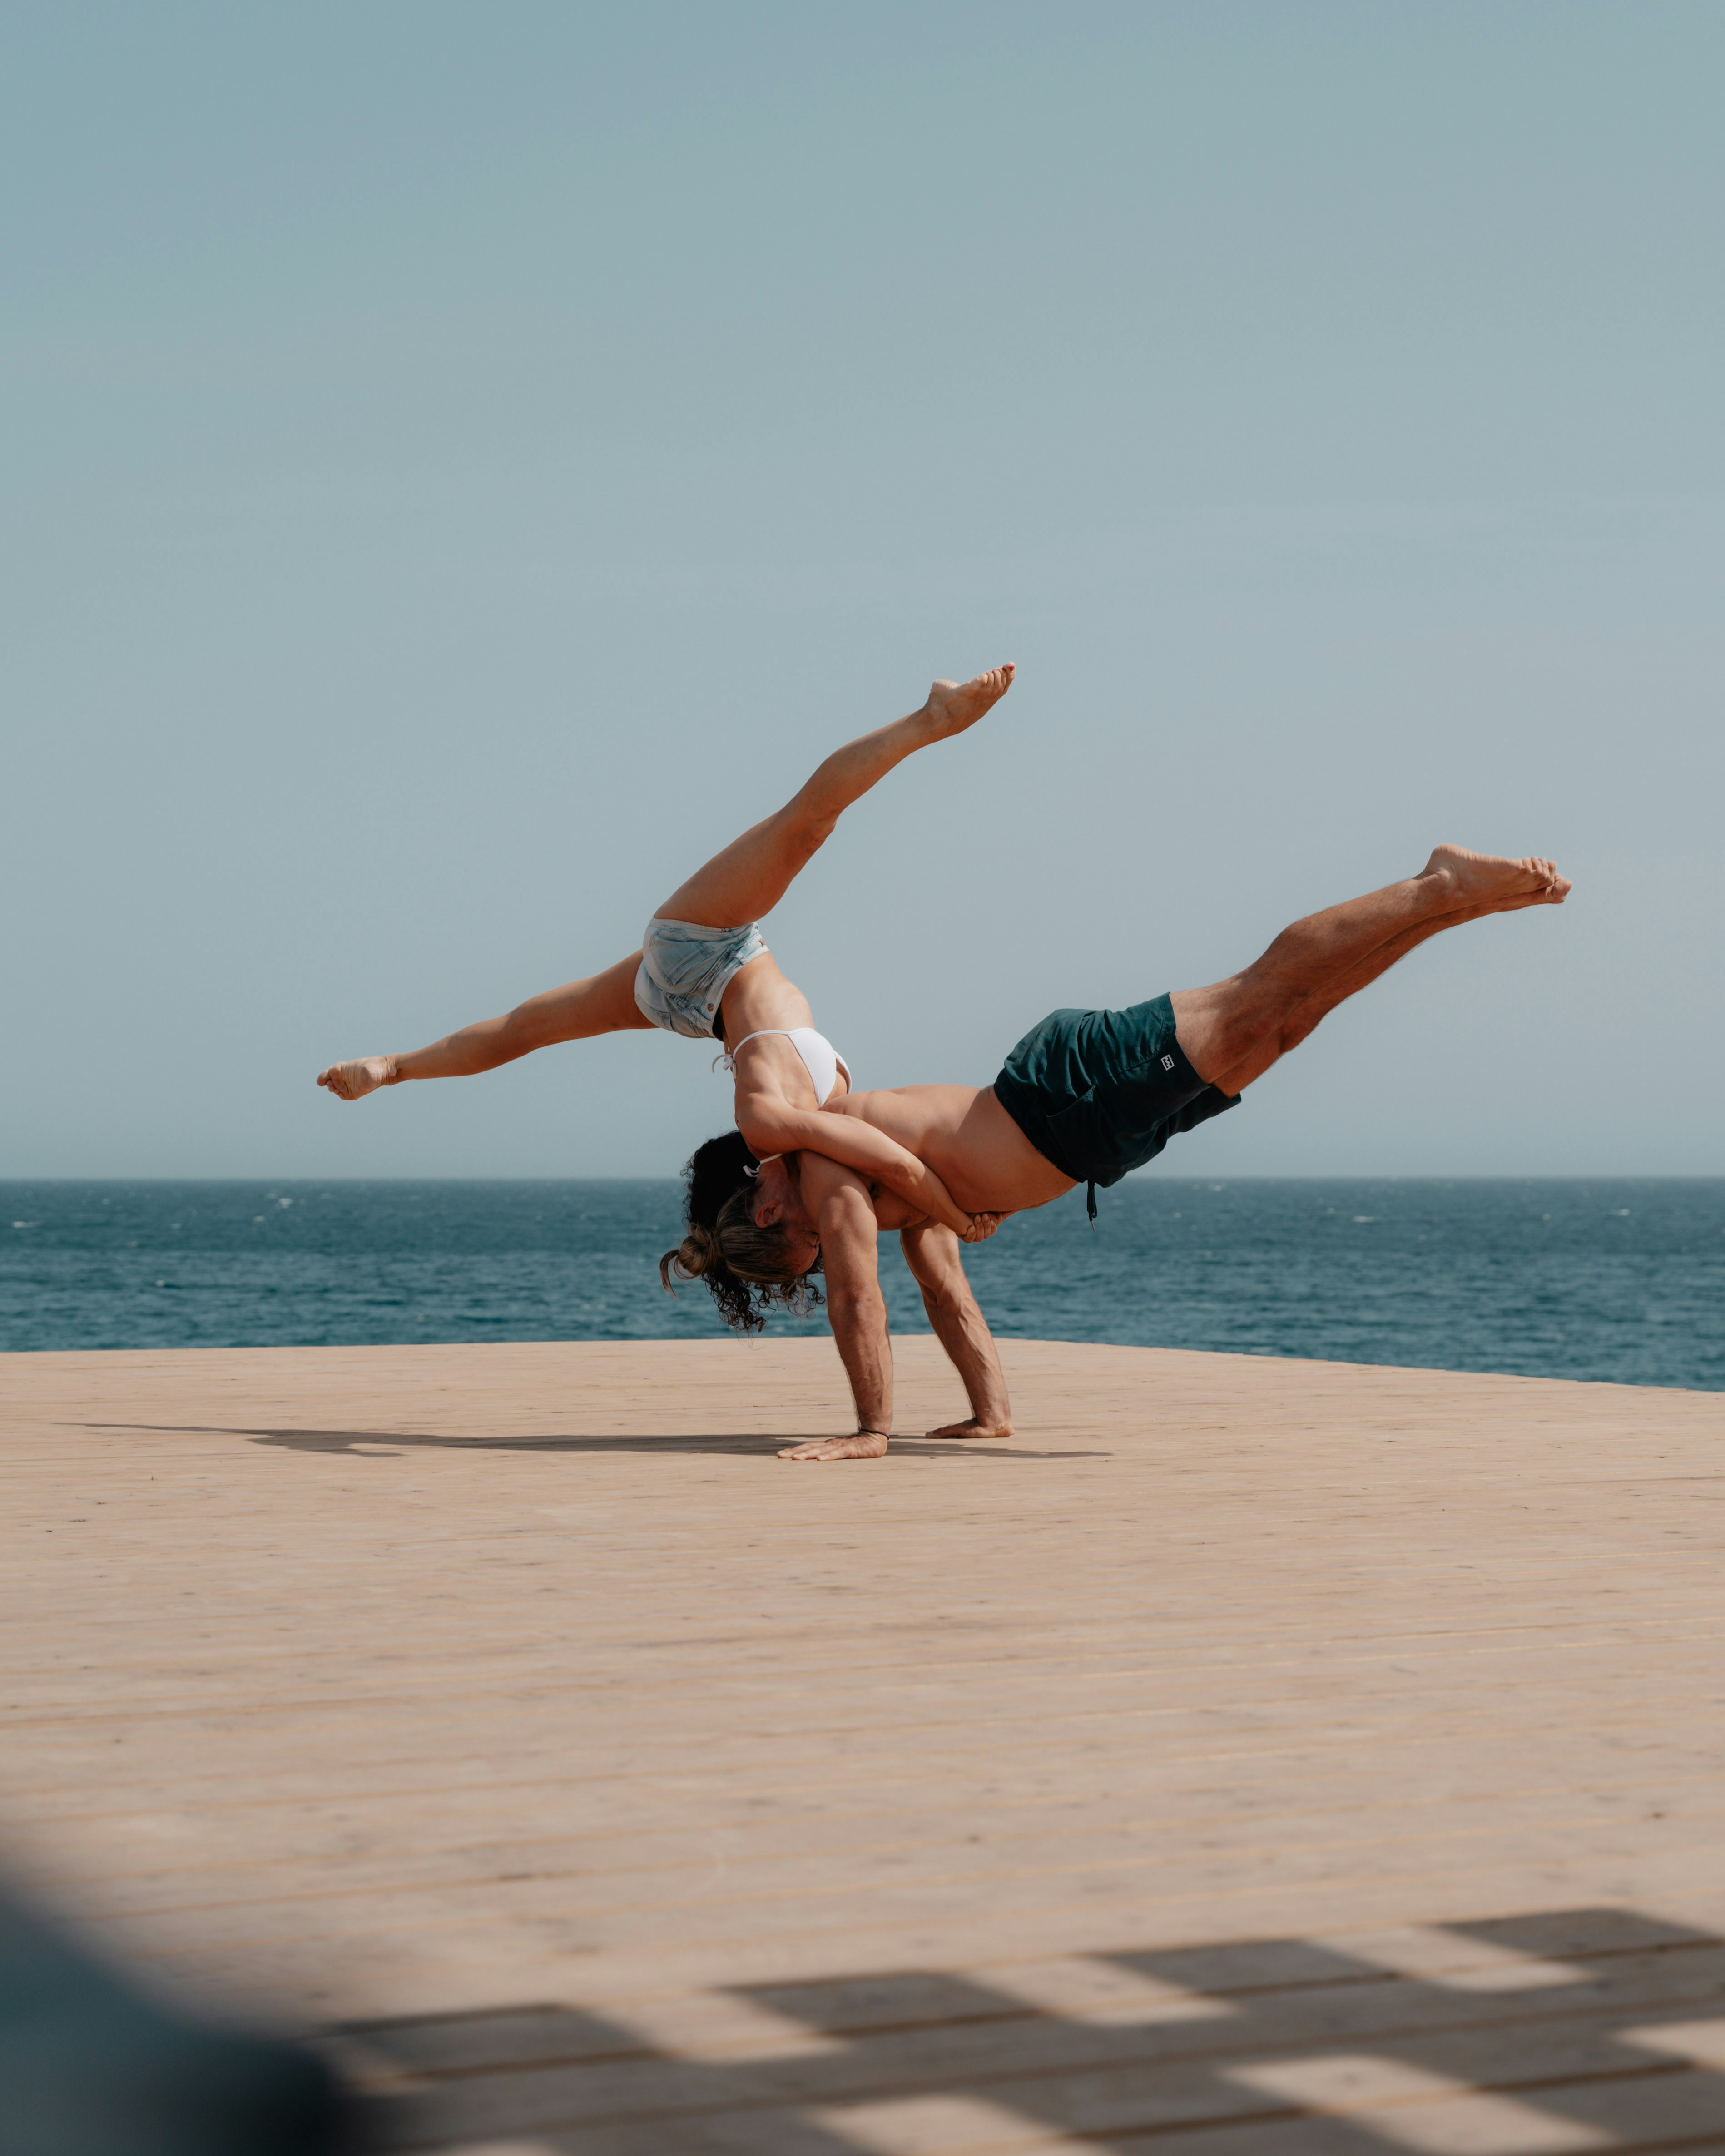
[[[1419,875],[1296,921],[1229,981],[1175,990],[1179,1046],[1205,1084],[1240,1093],[1427,936],[1568,895],[1548,860],[1440,845]]]

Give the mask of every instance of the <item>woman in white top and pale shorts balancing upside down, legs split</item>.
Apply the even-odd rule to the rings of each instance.
[[[819,1263],[819,1240],[787,1218],[789,1210],[768,1205],[755,1218],[755,1171],[781,1153],[826,1153],[979,1242],[994,1231],[992,1216],[960,1212],[940,1177],[873,1125],[822,1115],[850,1093],[850,1069],[815,1033],[806,996],[778,970],[759,923],[854,800],[916,748],[975,727],[1011,677],[1011,666],[996,666],[975,681],[936,681],[921,711],[828,757],[776,815],[673,890],[647,923],[640,951],[606,972],[546,990],[429,1048],[332,1063],[317,1082],[336,1100],[364,1100],[410,1078],[468,1078],[552,1041],[636,1026],[722,1041],[737,1128],[688,1162],[688,1235],[662,1259],[660,1279],[666,1287],[673,1274],[705,1281],[733,1326],[759,1328],[765,1307],[804,1309],[811,1300],[804,1281]]]

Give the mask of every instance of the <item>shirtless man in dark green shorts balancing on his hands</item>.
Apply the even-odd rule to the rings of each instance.
[[[1486,914],[1561,906],[1568,895],[1568,880],[1548,860],[1440,845],[1419,875],[1296,921],[1257,964],[1227,981],[1126,1011],[1054,1011],[1011,1050],[992,1087],[852,1093],[824,1112],[860,1117],[895,1138],[983,1229],[1048,1205],[1080,1181],[1091,1186],[1095,1216],[1098,1184],[1119,1181],[1175,1132],[1238,1106],[1244,1089],[1298,1048],[1326,1011],[1414,944]],[[923,1302],[970,1395],[970,1423],[938,1436],[1011,1432],[994,1341],[949,1227],[813,1151],[761,1162],[755,1225],[776,1231],[798,1270],[822,1259],[832,1337],[856,1399],[852,1436],[794,1445],[781,1460],[878,1460],[886,1451],[893,1354],[875,1272],[882,1229],[901,1233]]]

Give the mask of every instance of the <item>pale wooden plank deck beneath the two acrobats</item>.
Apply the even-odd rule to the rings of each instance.
[[[1725,1399],[1005,1358],[0,1358],[0,1858],[403,2147],[1725,2150]]]

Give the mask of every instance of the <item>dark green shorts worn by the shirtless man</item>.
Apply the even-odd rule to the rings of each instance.
[[[1216,1091],[1173,1037],[1167,996],[1130,1011],[1050,1011],[1007,1056],[994,1095],[1044,1160],[1076,1184],[1117,1184],[1240,1095]]]

